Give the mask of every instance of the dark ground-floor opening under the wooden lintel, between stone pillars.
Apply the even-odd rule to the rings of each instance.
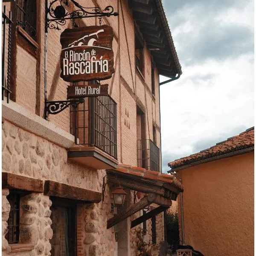
[[[50,240],[52,256],[76,256],[76,203],[51,197],[50,208],[53,236]]]

